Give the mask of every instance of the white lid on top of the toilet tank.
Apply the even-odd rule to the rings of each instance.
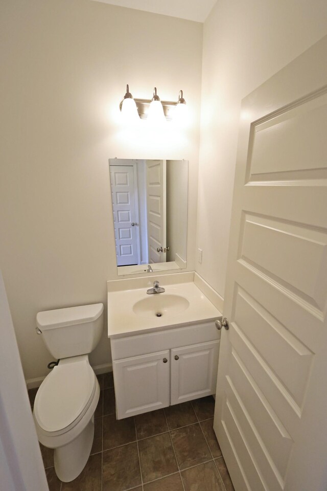
[[[74,324],[96,321],[103,313],[103,303],[81,305],[79,307],[45,310],[36,315],[36,325],[41,330],[65,327]]]

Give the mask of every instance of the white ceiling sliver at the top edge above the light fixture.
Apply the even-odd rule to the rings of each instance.
[[[145,10],[187,20],[204,22],[216,0],[94,0],[105,4]]]

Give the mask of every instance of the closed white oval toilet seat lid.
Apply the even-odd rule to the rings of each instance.
[[[35,397],[39,426],[57,432],[71,425],[89,406],[95,385],[95,373],[85,360],[54,367]]]

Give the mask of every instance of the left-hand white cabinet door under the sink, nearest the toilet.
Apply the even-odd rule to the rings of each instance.
[[[117,419],[169,406],[169,350],[112,364]]]

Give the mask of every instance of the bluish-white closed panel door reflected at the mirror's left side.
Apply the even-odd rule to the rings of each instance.
[[[133,167],[110,165],[110,184],[117,265],[138,264],[137,200]]]

